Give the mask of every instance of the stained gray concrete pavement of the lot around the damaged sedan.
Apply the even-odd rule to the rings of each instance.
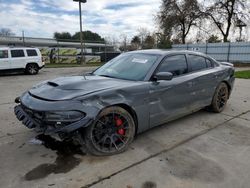
[[[15,97],[32,85],[92,69],[0,76],[0,187],[249,187],[250,80],[236,80],[223,113],[201,110],[156,127],[138,135],[128,151],[110,157],[40,138],[45,147],[15,118]]]

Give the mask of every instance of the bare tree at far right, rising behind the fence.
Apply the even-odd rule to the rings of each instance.
[[[205,16],[210,18],[228,42],[230,30],[239,20],[247,18],[247,0],[213,0],[212,4],[204,10]]]

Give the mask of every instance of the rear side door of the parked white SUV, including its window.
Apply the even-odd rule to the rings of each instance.
[[[11,49],[10,64],[13,69],[20,69],[26,67],[25,52],[23,49]]]

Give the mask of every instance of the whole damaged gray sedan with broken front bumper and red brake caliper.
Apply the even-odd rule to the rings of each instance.
[[[233,65],[207,55],[135,51],[92,73],[34,86],[16,99],[15,114],[40,134],[112,155],[155,126],[205,107],[221,112],[233,84]]]

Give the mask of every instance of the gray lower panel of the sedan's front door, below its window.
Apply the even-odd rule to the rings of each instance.
[[[192,109],[193,77],[184,75],[171,81],[152,82],[150,87],[150,126],[154,127]],[[163,118],[164,117],[164,118]]]

